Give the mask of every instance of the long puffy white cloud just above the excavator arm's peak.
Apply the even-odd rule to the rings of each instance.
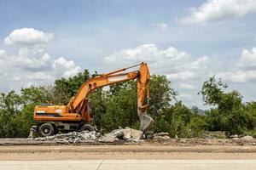
[[[104,61],[123,65],[147,62],[154,73],[165,74],[170,80],[188,80],[197,77],[198,71],[207,68],[208,58],[203,56],[193,60],[190,54],[182,50],[173,47],[159,49],[151,43],[110,54]]]

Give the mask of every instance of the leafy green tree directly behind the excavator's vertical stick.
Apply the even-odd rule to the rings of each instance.
[[[155,119],[157,116],[160,116],[161,110],[170,106],[171,99],[175,93],[170,88],[170,82],[165,76],[152,75],[149,83],[150,99],[148,114]],[[104,97],[102,98],[104,99]],[[111,85],[104,101],[102,101],[101,105],[104,105],[105,114],[101,114],[102,124],[98,125],[102,127],[103,131],[110,131],[118,127],[139,127],[135,81]]]

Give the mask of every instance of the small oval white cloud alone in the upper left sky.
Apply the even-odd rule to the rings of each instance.
[[[6,45],[24,45],[33,46],[45,44],[54,38],[54,35],[49,32],[38,31],[34,28],[21,28],[12,31],[8,37],[5,37]]]

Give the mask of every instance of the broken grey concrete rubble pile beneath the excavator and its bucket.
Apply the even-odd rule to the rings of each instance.
[[[126,127],[113,130],[111,133],[102,135],[96,131],[82,131],[61,133],[53,136],[38,137],[36,141],[54,141],[57,144],[79,144],[79,143],[113,143],[115,141],[124,141],[126,143],[137,143],[142,141],[143,132]]]

